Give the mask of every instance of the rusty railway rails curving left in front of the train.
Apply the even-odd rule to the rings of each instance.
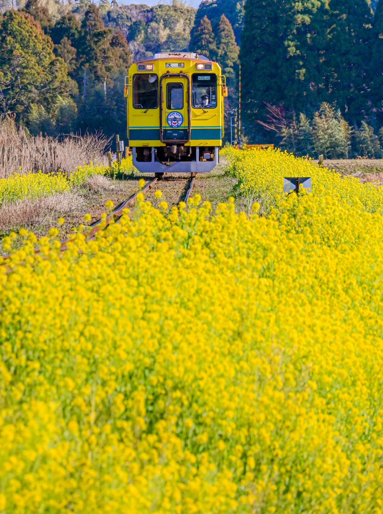
[[[171,178],[171,177],[167,177],[167,178]],[[194,187],[195,173],[192,173],[191,179],[183,179],[183,180],[188,180],[188,181],[190,180],[190,183],[188,184],[189,188],[187,189],[186,195],[185,195],[185,202],[187,203],[187,201],[190,197],[190,194],[193,190],[193,187]],[[89,225],[86,228],[86,230],[84,230],[82,233],[84,235],[86,235],[89,239],[92,239],[99,230],[101,230],[101,229],[104,230],[108,225],[110,225],[110,223],[112,221],[115,220],[115,218],[119,218],[120,216],[122,216],[124,209],[134,205],[136,202],[136,199],[137,199],[137,195],[139,193],[147,193],[150,189],[152,189],[156,185],[156,183],[158,183],[158,181],[162,181],[162,177],[161,178],[155,177],[152,180],[150,180],[148,183],[146,183],[144,185],[144,187],[142,189],[137,191],[137,193],[135,193],[134,195],[132,195],[129,198],[127,198],[126,200],[124,200],[122,202],[122,204],[120,204],[114,211],[112,211],[110,214],[108,214],[106,216],[106,218],[98,219],[95,223],[93,223],[92,225]],[[181,197],[183,196],[185,189],[186,189],[185,185],[182,185],[182,192],[179,197],[179,200],[181,200]],[[67,250],[67,248],[68,248],[67,245],[73,241],[74,241],[73,237],[67,237],[64,240],[60,241],[60,251]],[[35,250],[35,254],[37,254],[37,253],[40,253],[40,248],[37,248]],[[6,264],[6,261],[9,257],[10,257],[9,254],[3,255],[3,264]]]

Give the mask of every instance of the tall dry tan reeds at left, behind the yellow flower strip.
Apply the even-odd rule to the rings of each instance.
[[[104,135],[70,135],[61,140],[31,137],[12,118],[0,122],[0,178],[15,171],[69,173],[84,162],[96,159],[106,164],[104,150],[110,139]]]

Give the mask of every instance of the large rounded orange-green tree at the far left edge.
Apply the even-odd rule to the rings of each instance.
[[[56,116],[60,99],[76,93],[64,61],[31,15],[8,11],[0,25],[0,117],[27,120],[33,106]]]

